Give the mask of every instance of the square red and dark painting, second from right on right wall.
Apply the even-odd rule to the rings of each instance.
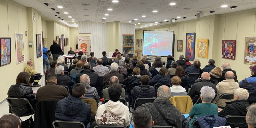
[[[222,40],[221,57],[236,60],[236,40]]]

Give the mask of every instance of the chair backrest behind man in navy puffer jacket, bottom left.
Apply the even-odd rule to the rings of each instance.
[[[54,128],[85,128],[84,123],[78,121],[60,121],[52,122]]]

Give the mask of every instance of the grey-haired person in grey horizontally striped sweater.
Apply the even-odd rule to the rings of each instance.
[[[100,102],[97,89],[90,86],[90,77],[86,74],[80,76],[80,83],[85,84],[87,92],[84,95],[84,99],[92,98],[96,100],[97,103]]]

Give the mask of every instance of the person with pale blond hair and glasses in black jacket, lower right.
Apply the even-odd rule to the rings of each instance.
[[[226,106],[221,109],[218,108],[219,116],[246,116],[246,108],[249,103],[246,101],[249,97],[249,93],[246,89],[238,88],[234,93],[234,101],[226,102]]]

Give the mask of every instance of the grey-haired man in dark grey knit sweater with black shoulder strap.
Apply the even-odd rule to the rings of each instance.
[[[142,76],[143,77],[143,76]],[[157,98],[153,103],[146,103],[141,105],[147,107],[152,115],[152,119],[155,125],[170,125],[172,124],[176,128],[182,127],[182,119],[180,111],[171,103],[169,98],[171,97],[171,89],[162,85],[157,89]],[[163,116],[168,120],[165,122],[156,107],[163,113]]]

